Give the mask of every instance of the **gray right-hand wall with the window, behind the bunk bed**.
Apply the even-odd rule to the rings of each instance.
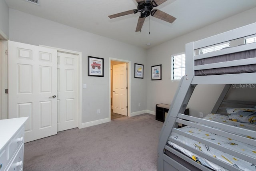
[[[195,30],[194,32],[180,36],[154,48],[150,48],[147,51],[146,72],[151,72],[151,66],[162,64],[162,80],[151,81],[150,78],[147,79],[147,109],[155,111],[155,105],[157,103],[170,104],[173,100],[179,82],[171,81],[171,55],[185,52],[185,44],[188,42],[200,40],[240,26],[254,23],[256,22],[255,16],[256,8],[252,8],[237,14],[236,16],[226,18],[225,20]],[[210,113],[222,88],[223,85],[197,85],[190,102],[188,103],[190,114],[199,116],[199,112],[203,112],[204,114]],[[241,93],[241,91],[246,91],[245,89],[240,89],[238,91],[239,93],[236,92],[237,88],[233,88],[230,91],[236,94],[236,96],[232,96],[232,93],[229,93],[228,97],[231,99],[236,97],[239,99],[256,101],[255,96],[249,97],[250,93]],[[250,92],[251,91],[256,94],[256,88],[251,88]]]

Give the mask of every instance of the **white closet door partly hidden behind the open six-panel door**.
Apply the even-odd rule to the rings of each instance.
[[[78,56],[58,52],[58,131],[78,127]]]

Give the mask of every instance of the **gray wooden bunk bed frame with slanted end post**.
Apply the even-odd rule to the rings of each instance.
[[[228,148],[218,146],[210,141],[206,141],[204,139],[200,139],[194,135],[188,135],[179,129],[177,129],[178,123],[182,123],[184,125],[189,125],[192,127],[196,127],[198,129],[208,131],[211,133],[216,133],[221,136],[230,137],[232,139],[242,141],[244,143],[254,145],[256,144],[256,140],[248,139],[246,137],[241,137],[236,135],[235,133],[239,133],[245,135],[251,135],[252,137],[256,137],[256,132],[252,130],[247,130],[239,127],[233,127],[230,125],[225,125],[223,123],[218,123],[214,121],[209,121],[206,119],[201,119],[197,117],[192,117],[188,115],[184,115],[186,106],[188,101],[193,93],[194,88],[198,84],[226,84],[224,87],[218,101],[216,102],[214,108],[212,109],[212,113],[216,113],[226,93],[228,92],[230,85],[232,84],[256,84],[256,72],[254,73],[242,73],[242,74],[222,74],[222,75],[210,75],[210,76],[195,76],[196,70],[204,70],[204,69],[212,69],[212,68],[223,68],[223,67],[232,67],[232,66],[242,66],[242,65],[250,65],[256,64],[256,58],[242,59],[242,60],[234,60],[227,62],[218,62],[214,64],[205,64],[200,66],[194,66],[195,60],[210,58],[213,56],[220,56],[223,54],[231,54],[236,52],[242,52],[246,50],[256,49],[256,43],[253,44],[245,44],[243,46],[231,47],[223,50],[218,50],[206,54],[195,55],[195,50],[200,48],[204,48],[207,46],[212,46],[215,44],[220,44],[223,42],[228,42],[231,40],[236,40],[239,38],[244,38],[247,36],[251,36],[256,34],[256,23],[249,24],[247,26],[243,26],[241,28],[237,28],[234,30],[230,30],[228,32],[224,32],[222,34],[218,34],[216,36],[212,36],[209,38],[205,38],[196,42],[190,42],[186,44],[186,74],[180,80],[180,84],[174,96],[174,99],[171,103],[170,109],[168,111],[168,115],[166,116],[164,125],[160,132],[159,143],[158,143],[158,171],[188,171],[188,170],[208,170],[212,171],[212,169],[200,165],[195,162],[190,157],[187,157],[180,151],[177,151],[167,144],[168,140],[180,145],[183,148],[186,148],[197,155],[201,155],[202,157],[208,159],[224,167],[225,169],[232,171],[240,171],[237,167],[234,167],[228,163],[225,163],[213,156],[206,155],[201,151],[188,147],[179,141],[174,139],[169,139],[172,131],[189,137],[190,139],[194,139],[196,141],[200,141],[204,144],[207,144],[215,149],[223,151],[224,153],[228,153],[230,155],[236,156],[245,161],[255,163],[256,158],[250,157],[248,155],[244,155],[242,153],[232,151]],[[254,79],[253,79],[254,78]],[[226,103],[230,103],[231,101],[226,101]],[[242,101],[240,101],[242,103]],[[251,103],[251,105],[255,105]],[[195,122],[202,123],[204,125],[195,124]],[[234,132],[234,133],[230,133]],[[169,155],[165,154],[165,150],[170,152]]]

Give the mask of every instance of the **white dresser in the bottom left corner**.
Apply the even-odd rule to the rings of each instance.
[[[22,171],[24,123],[28,117],[0,120],[0,171]]]

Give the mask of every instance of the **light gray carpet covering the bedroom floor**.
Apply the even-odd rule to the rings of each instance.
[[[162,125],[145,113],[25,143],[24,171],[156,171]]]

